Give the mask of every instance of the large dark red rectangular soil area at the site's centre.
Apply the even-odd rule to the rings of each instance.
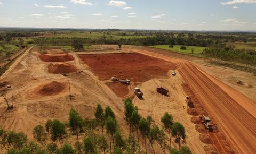
[[[138,53],[84,54],[79,55],[100,80],[117,78],[145,82],[153,78],[167,77],[169,70],[176,69],[173,63]]]

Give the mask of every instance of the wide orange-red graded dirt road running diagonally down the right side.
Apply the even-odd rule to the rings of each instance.
[[[134,51],[134,50],[133,50]],[[179,73],[238,153],[256,153],[256,102],[195,64],[146,50],[135,52],[177,63]]]

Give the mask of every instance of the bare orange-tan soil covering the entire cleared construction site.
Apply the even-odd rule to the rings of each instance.
[[[137,53],[134,54],[135,56],[127,53],[113,54],[124,52]],[[105,51],[95,53],[102,55]],[[132,96],[132,88],[136,86],[144,93],[143,99],[137,97],[133,99],[134,104],[139,108],[139,113],[144,117],[153,116],[159,125],[162,125],[160,119],[165,112],[172,114],[174,121],[181,122],[185,126],[188,136],[187,145],[193,153],[233,153],[234,151],[237,153],[254,153],[256,151],[254,143],[256,138],[255,101],[214,76],[199,70],[202,64],[195,65],[179,57],[172,58],[170,55],[157,54],[131,46],[123,47],[122,50],[107,50],[106,53],[111,54],[102,55],[100,60],[95,59],[99,57],[94,57],[99,55],[92,54],[79,55],[79,57],[84,56],[82,57],[83,60],[78,57],[77,54],[79,53],[46,54],[42,55],[47,60],[44,62],[38,57],[37,49],[27,50],[0,78],[0,83],[6,81],[12,85],[12,88],[6,93],[7,98],[11,99],[12,96],[15,98],[14,109],[9,111],[6,111],[5,102],[0,98],[0,124],[6,130],[25,132],[31,139],[33,138],[33,128],[38,124],[44,125],[47,119],[58,118],[61,121],[67,121],[71,107],[78,110],[83,117],[93,117],[95,106],[100,102],[103,108],[109,105],[113,109],[119,125],[121,125],[124,134],[127,135],[129,128],[123,120],[122,99]],[[110,57],[112,55],[115,56]],[[126,57],[130,57],[127,58],[129,60],[126,60]],[[141,63],[136,62],[134,64],[132,61],[134,57],[138,58]],[[75,66],[78,71],[69,73],[67,77],[49,73],[48,65],[51,64],[49,62],[59,61],[59,59],[65,59],[65,61],[68,59],[66,63]],[[195,61],[197,60],[195,59]],[[104,65],[106,66],[102,64],[102,61],[105,61]],[[107,65],[107,62],[111,66]],[[97,67],[97,64],[104,67],[108,72]],[[111,68],[113,67],[117,70],[112,71]],[[136,71],[134,67],[139,67],[138,70],[141,71]],[[176,67],[178,68],[177,76],[172,76],[170,70]],[[125,72],[127,69],[131,70]],[[209,72],[215,70],[218,68]],[[157,74],[158,71],[159,74]],[[121,76],[122,73],[119,72],[123,73],[124,79],[130,78],[137,83],[132,83],[128,87],[127,94],[123,92],[122,95],[117,96],[117,92],[113,92],[114,89],[121,88],[123,85],[118,86],[116,84],[115,86],[118,87],[111,88],[114,85],[109,87],[105,80],[109,80],[114,75]],[[223,71],[222,73],[226,72]],[[240,75],[243,76],[243,74]],[[220,78],[222,77],[220,76]],[[247,78],[249,75],[244,81],[249,83]],[[71,94],[74,95],[71,101],[68,97],[68,81],[70,81]],[[55,88],[50,85],[54,85]],[[156,87],[160,86],[169,90],[170,97],[157,93]],[[50,91],[50,94],[46,92],[46,95],[42,95],[38,92],[42,89],[45,89],[43,91]],[[51,90],[55,89],[58,91],[52,93]],[[121,89],[126,89],[126,87]],[[191,95],[195,102],[194,108],[191,109],[195,109],[198,113],[205,112],[212,118],[213,124],[217,124],[214,127],[214,132],[208,132],[201,123],[198,124],[198,116],[187,113],[186,95]],[[212,144],[208,144],[210,143],[209,138]],[[174,139],[172,139],[172,145],[177,147]],[[162,153],[158,146],[154,148],[156,148],[157,153]]]

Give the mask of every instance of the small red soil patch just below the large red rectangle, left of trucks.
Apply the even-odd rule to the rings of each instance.
[[[107,85],[119,97],[126,96],[129,93],[128,85],[126,84],[119,82],[108,82]]]

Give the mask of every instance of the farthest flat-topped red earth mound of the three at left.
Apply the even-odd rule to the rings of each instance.
[[[66,62],[73,61],[75,59],[69,54],[40,54],[39,58],[44,62]]]

